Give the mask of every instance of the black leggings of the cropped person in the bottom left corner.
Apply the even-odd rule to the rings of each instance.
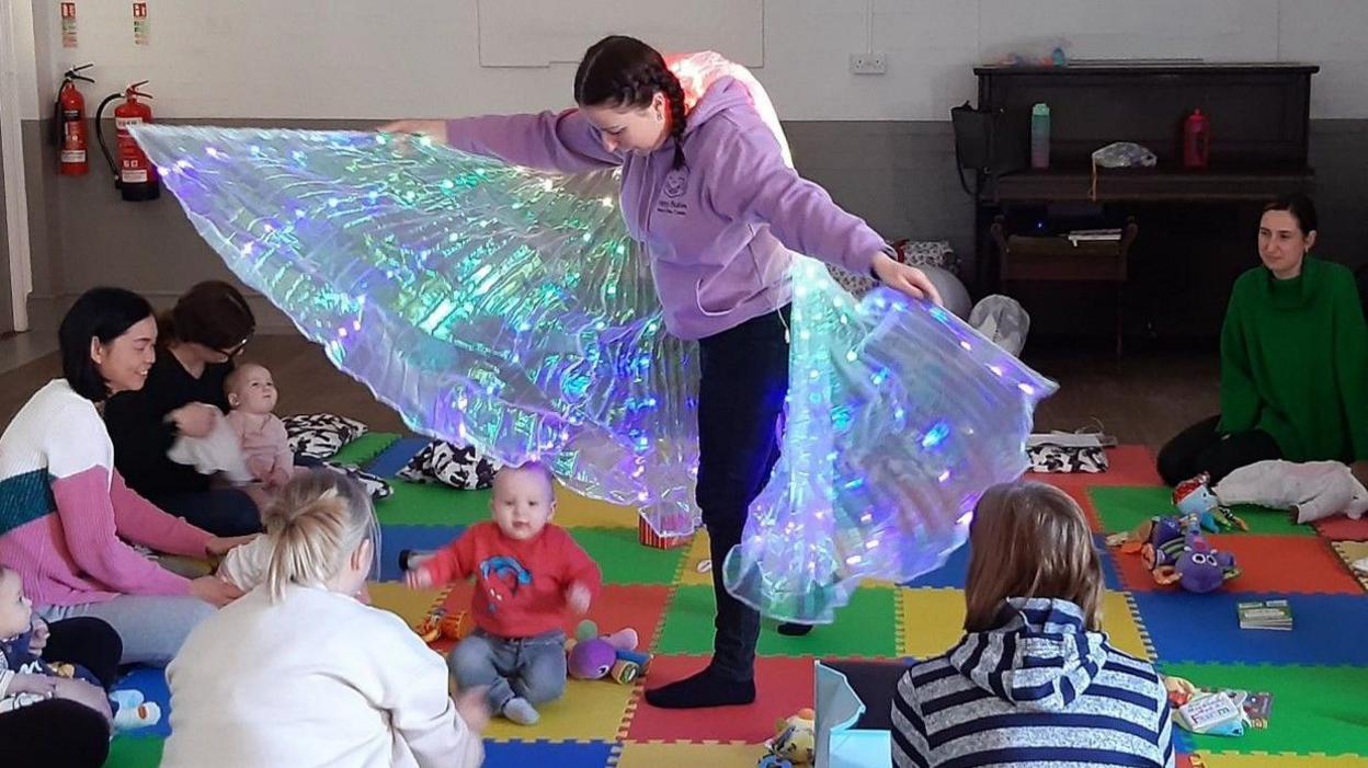
[[[105,690],[119,675],[123,642],[114,627],[82,616],[53,622],[47,661],[79,664]],[[7,768],[98,768],[109,756],[109,723],[85,704],[51,698],[0,715],[0,756]]]

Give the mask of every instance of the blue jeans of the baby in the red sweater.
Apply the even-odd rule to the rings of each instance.
[[[555,701],[565,693],[565,633],[503,638],[475,630],[447,656],[456,685],[462,690],[488,686],[495,713],[513,698],[531,704]]]

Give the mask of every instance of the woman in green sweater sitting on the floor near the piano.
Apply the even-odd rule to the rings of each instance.
[[[1308,257],[1315,242],[1311,198],[1264,206],[1264,264],[1235,280],[1220,331],[1220,414],[1159,452],[1170,485],[1264,459],[1368,459],[1368,324],[1353,272]]]

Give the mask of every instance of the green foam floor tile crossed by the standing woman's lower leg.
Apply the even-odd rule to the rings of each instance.
[[[761,625],[757,653],[761,656],[815,656],[830,659],[895,657],[896,590],[859,589],[850,605],[836,611],[836,623],[821,625],[806,637],[784,637],[773,620]],[[665,614],[657,653],[702,655],[713,652],[711,586],[679,586]]]

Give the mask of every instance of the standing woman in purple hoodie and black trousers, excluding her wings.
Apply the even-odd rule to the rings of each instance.
[[[689,98],[689,96],[696,97]],[[821,258],[940,303],[919,269],[784,161],[747,86],[729,77],[685,94],[658,51],[613,36],[575,72],[576,107],[538,115],[401,120],[456,149],[542,171],[622,168],[622,217],[646,246],[666,327],[700,351],[698,506],[714,563],[740,543],[750,503],[778,459],[776,424],[788,392],[791,251]],[[759,614],[713,568],[713,660],[646,691],[655,707],[755,700]]]

